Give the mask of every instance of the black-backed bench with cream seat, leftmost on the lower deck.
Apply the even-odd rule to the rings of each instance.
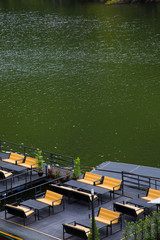
[[[34,213],[34,210],[23,207],[23,206],[14,206],[10,204],[5,205],[5,219],[7,218],[7,213],[12,214],[17,217],[21,217],[24,220],[24,225],[25,225],[25,219],[32,215]],[[36,215],[35,215],[36,219]]]

